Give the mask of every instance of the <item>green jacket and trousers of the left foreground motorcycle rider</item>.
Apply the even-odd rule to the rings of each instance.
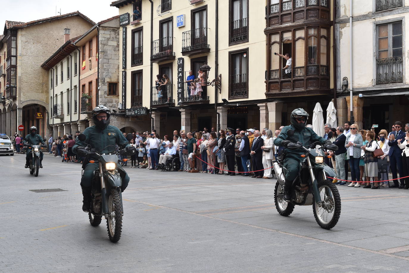
[[[115,151],[115,144],[117,144],[122,149],[131,146],[122,134],[121,131],[115,126],[108,125],[105,129],[101,129],[98,126],[91,126],[84,130],[83,134],[86,136],[85,143],[89,143],[92,148],[97,150],[99,153],[112,153]],[[87,144],[78,140],[72,147],[72,151],[76,153],[79,146],[85,147]],[[108,145],[112,145],[107,147]],[[104,149],[105,148],[105,149]],[[94,170],[98,169],[99,165],[97,163],[88,163],[85,166],[84,174],[81,178],[82,187],[91,187],[92,185],[92,174]],[[118,172],[122,178],[122,190],[128,186],[129,176],[126,171],[118,166]]]

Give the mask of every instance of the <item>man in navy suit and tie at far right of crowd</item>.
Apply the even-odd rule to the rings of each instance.
[[[391,164],[392,178],[398,178],[398,172],[396,167],[399,170],[399,176],[404,177],[403,175],[403,163],[402,163],[402,150],[398,147],[398,140],[402,141],[405,139],[405,132],[402,130],[402,122],[397,121],[394,123],[395,132],[389,135],[388,145],[389,149],[389,161]],[[405,179],[400,178],[400,185],[398,180],[393,180],[393,185],[391,188],[399,187],[400,189],[405,187]]]

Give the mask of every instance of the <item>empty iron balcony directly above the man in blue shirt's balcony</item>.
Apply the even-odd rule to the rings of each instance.
[[[182,55],[209,53],[210,45],[207,44],[207,27],[200,27],[182,33]]]

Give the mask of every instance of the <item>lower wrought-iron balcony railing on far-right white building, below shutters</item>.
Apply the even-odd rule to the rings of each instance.
[[[376,60],[376,84],[403,82],[403,58]]]

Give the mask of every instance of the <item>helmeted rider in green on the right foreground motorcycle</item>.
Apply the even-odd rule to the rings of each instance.
[[[313,142],[319,141],[322,144],[331,144],[330,140],[325,140],[317,135],[311,128],[307,128],[308,113],[303,108],[294,109],[291,112],[291,125],[285,126],[278,137],[274,140],[274,145],[283,146],[285,148],[286,156],[283,162],[283,167],[287,169],[285,173],[285,184],[283,199],[286,201],[291,200],[291,185],[295,178],[299,174],[301,149],[289,149],[292,143],[297,143],[297,140],[303,145],[308,146]],[[294,136],[288,135],[288,130],[294,131]]]

